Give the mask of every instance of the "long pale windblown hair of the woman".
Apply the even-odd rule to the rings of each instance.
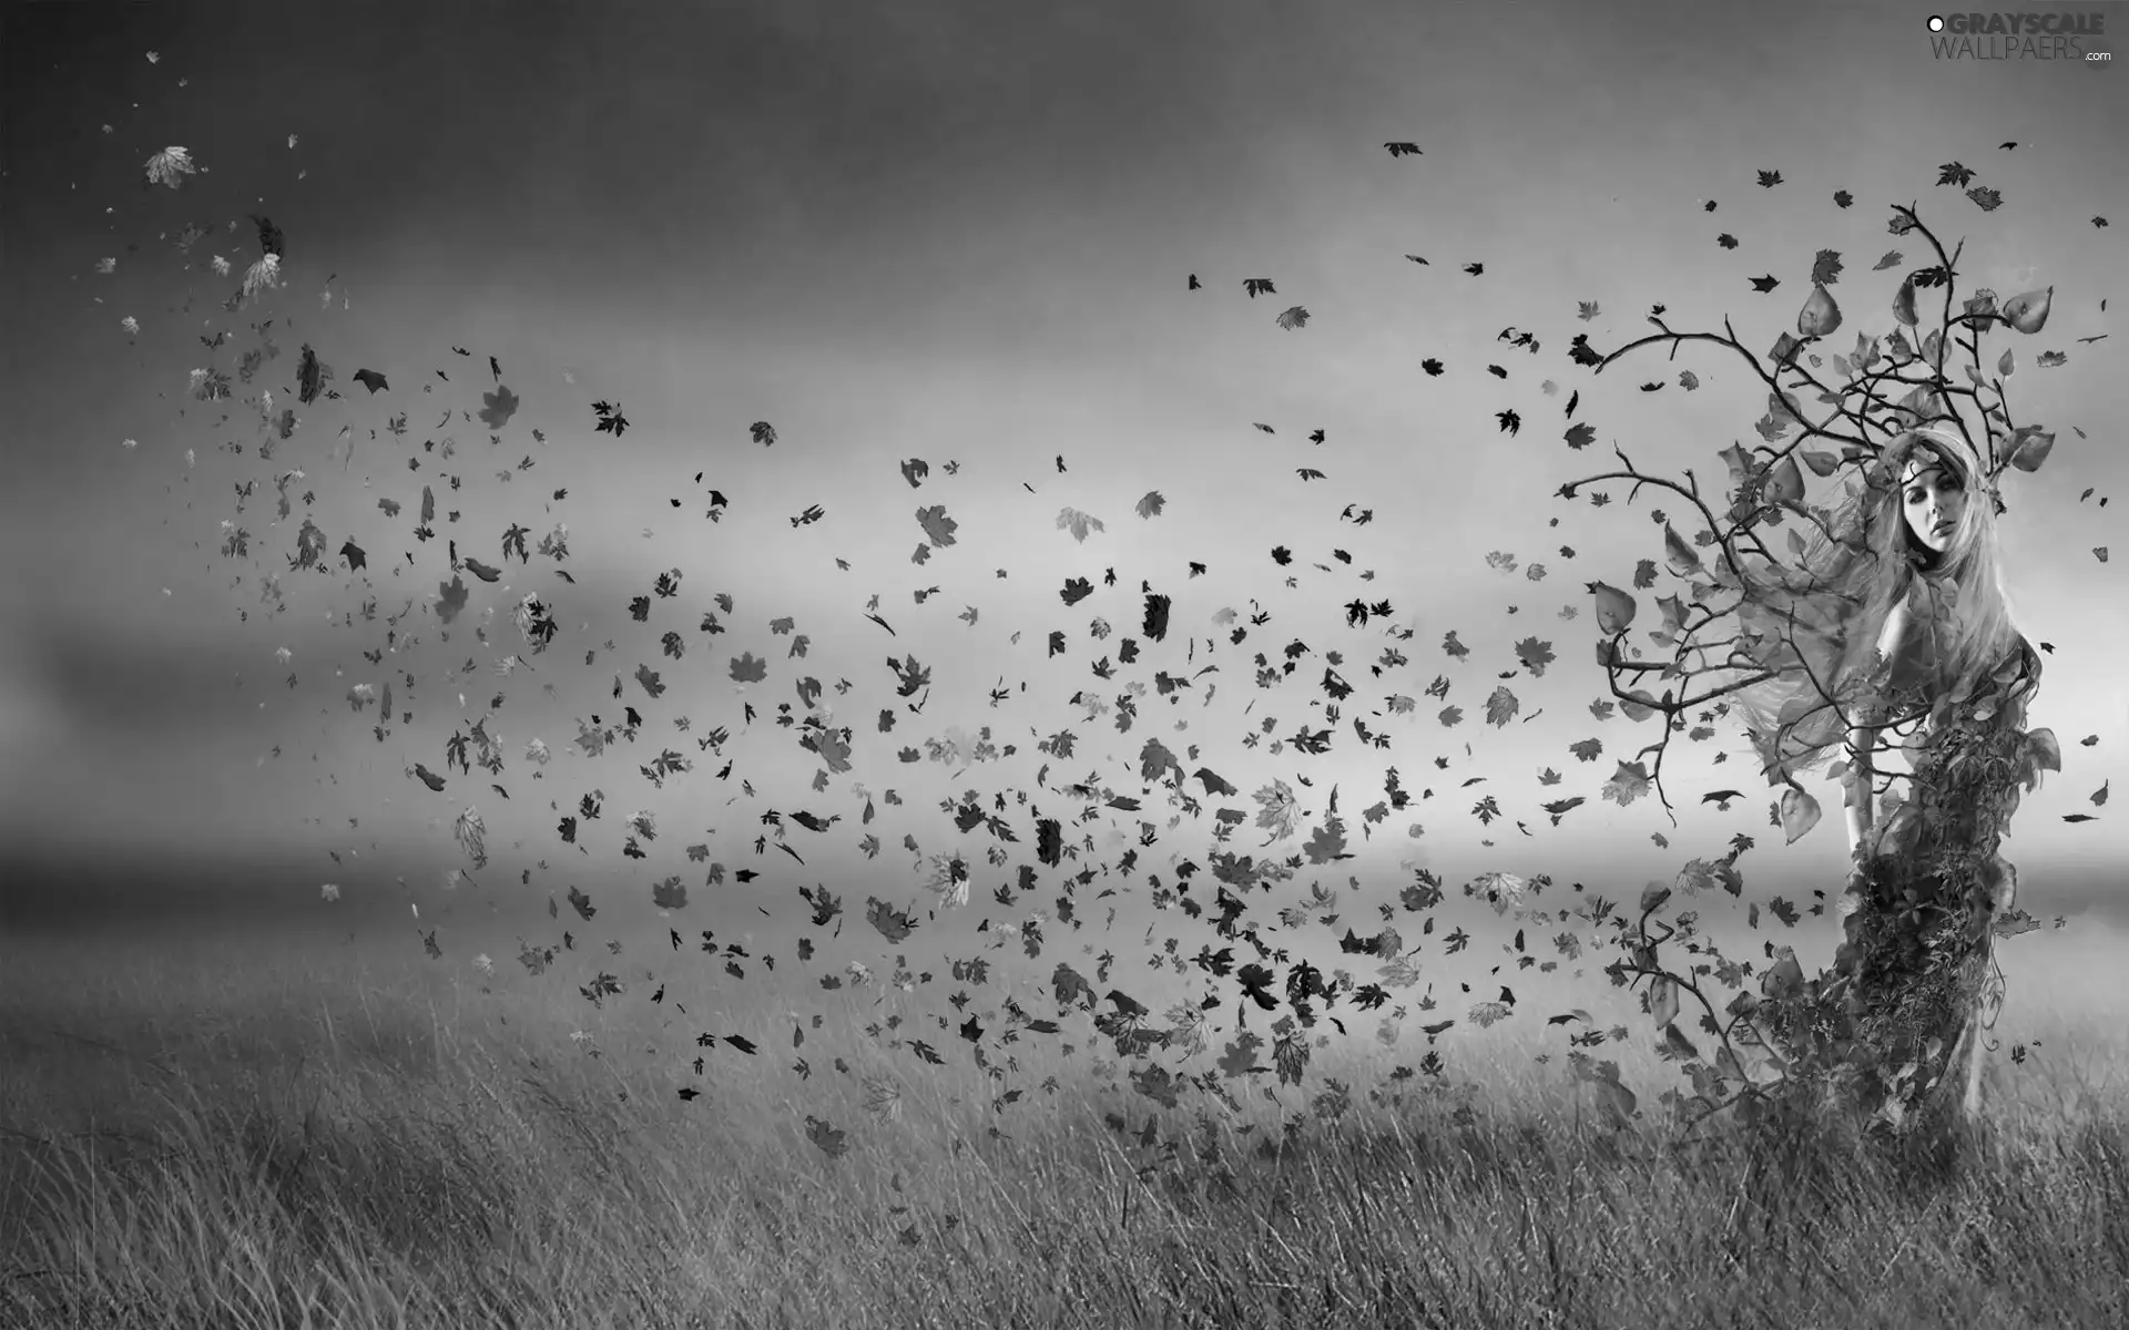
[[[1901,511],[1901,472],[1922,453],[1959,475],[1965,502],[1944,553],[1916,538]],[[1893,438],[1863,483],[1850,485],[1825,530],[1805,541],[1799,568],[1737,568],[1744,653],[1771,679],[1731,694],[1761,770],[1773,785],[1814,770],[1848,728],[1886,698],[1878,692],[1878,634],[1905,602],[1912,630],[1929,634],[1929,702],[1961,696],[2020,643],[2003,587],[1995,487],[1963,434],[1929,426]],[[1871,724],[1908,717],[1871,713]]]

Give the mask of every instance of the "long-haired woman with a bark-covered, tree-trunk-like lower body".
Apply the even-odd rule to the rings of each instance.
[[[1910,430],[1801,570],[1744,577],[1746,655],[1773,677],[1735,706],[1776,783],[1842,753],[1829,775],[1852,864],[1831,975],[1756,1024],[1790,1060],[1848,1045],[1835,1090],[1899,1132],[1976,1107],[1993,924],[2016,894],[1997,845],[2020,781],[2037,781],[2025,709],[2040,655],[2012,624],[1997,515],[1959,432]],[[1880,747],[1912,770],[1882,770]]]

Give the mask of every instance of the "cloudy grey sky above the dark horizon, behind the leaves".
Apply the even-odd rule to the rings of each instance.
[[[1918,236],[1886,232],[1888,204],[1920,200],[1948,245],[1965,238],[1965,289],[2054,285],[2046,332],[2008,343],[2018,423],[2042,421],[2059,443],[2040,475],[2006,481],[2006,543],[2020,626],[2054,645],[2033,724],[2054,728],[2065,770],[2027,800],[2010,853],[2029,881],[2086,881],[2129,855],[2112,809],[2091,802],[2129,741],[2118,664],[2129,626],[2108,611],[2125,596],[2120,564],[2095,555],[2118,543],[2118,509],[2099,500],[2129,481],[2123,340],[2078,340],[2110,332],[2099,304],[2120,294],[2120,226],[2093,217],[2129,217],[2114,130],[2129,89],[2108,66],[1937,60],[1927,13],[1231,0],[443,4],[362,17],[11,6],[0,834],[47,858],[273,851],[326,879],[339,872],[330,849],[462,862],[449,826],[475,802],[515,875],[528,858],[575,862],[556,821],[603,789],[607,817],[588,834],[598,866],[581,872],[698,879],[681,845],[709,843],[730,868],[786,870],[773,851],[754,855],[762,813],[841,815],[826,834],[790,832],[809,868],[781,872],[788,894],[796,877],[862,864],[869,830],[896,881],[920,877],[905,834],[924,853],[981,853],[979,828],[962,836],[943,821],[937,800],[950,792],[979,789],[988,807],[999,789],[1028,789],[1043,815],[1073,817],[1079,800],[1035,789],[1045,762],[1050,789],[1099,772],[1137,796],[1130,770],[1158,736],[1186,772],[1209,766],[1239,794],[1207,796],[1192,781],[1205,819],[1165,832],[1150,862],[1201,855],[1214,807],[1254,819],[1254,792],[1284,779],[1311,817],[1277,853],[1307,838],[1339,787],[1350,849],[1367,860],[1331,872],[1418,855],[1452,872],[1614,872],[1624,892],[1720,853],[1735,832],[1769,847],[1763,872],[1829,872],[1844,858],[1835,792],[1818,787],[1827,826],[1771,849],[1765,781],[1737,760],[1731,730],[1673,745],[1665,772],[1680,828],[1654,800],[1599,798],[1654,728],[1588,711],[1603,675],[1584,583],[1624,585],[1635,560],[1661,560],[1646,513],[1663,504],[1629,506],[1618,483],[1607,509],[1554,492],[1610,470],[1614,440],[1646,468],[1693,466],[1720,489],[1716,451],[1754,440],[1765,389],[1705,345],[1676,362],[1648,351],[1601,379],[1567,349],[1578,334],[1599,349],[1639,336],[1652,304],[1678,328],[1731,319],[1765,349],[1793,326],[1822,249],[1842,255],[1831,289],[1846,311],[1825,351],[1884,334],[1897,277],[1927,260]],[[1390,155],[1386,140],[1422,151]],[[149,187],[143,162],[168,145],[187,147],[200,172]],[[1982,211],[1940,187],[1950,162],[2003,204]],[[1761,187],[1773,170],[1780,183]],[[1835,206],[1835,192],[1854,206]],[[251,215],[285,234],[285,283],[226,313],[260,255]],[[207,234],[179,249],[187,223]],[[1718,245],[1722,234],[1735,247]],[[1874,272],[1888,249],[1905,260]],[[209,270],[213,255],[234,264],[228,279]],[[104,257],[117,260],[111,272],[98,270]],[[1473,264],[1482,272],[1467,272]],[[1192,275],[1203,289],[1188,289]],[[1761,275],[1780,285],[1754,292]],[[1275,292],[1245,296],[1256,277]],[[1578,317],[1584,302],[1592,317]],[[1275,323],[1288,306],[1307,309],[1305,326]],[[228,402],[187,400],[187,372],[234,370],[266,317],[281,353],[258,381]],[[202,345],[224,328],[228,345]],[[1503,328],[1539,351],[1503,343]],[[302,345],[332,368],[341,398],[298,406]],[[2001,345],[1997,334],[1988,353]],[[2048,349],[2067,364],[2040,368]],[[358,385],[360,368],[385,387]],[[1680,387],[1686,368],[1699,392]],[[462,413],[498,385],[522,404],[490,443]],[[300,417],[270,462],[258,455],[262,387],[275,413]],[[1599,440],[1584,451],[1563,440],[1575,392],[1573,419]],[[596,432],[594,400],[620,402],[628,432]],[[1520,415],[1518,434],[1499,428],[1503,411]],[[402,436],[387,430],[398,413]],[[775,426],[773,445],[749,436],[754,421]],[[456,460],[422,451],[445,436]],[[217,451],[230,440],[245,451]],[[519,460],[532,468],[500,481]],[[909,460],[928,464],[915,487]],[[275,477],[292,468],[304,470],[287,487],[294,517],[277,523]],[[462,492],[447,489],[449,475],[464,477]],[[236,513],[247,479],[255,492]],[[439,489],[428,543],[409,534],[422,485]],[[711,487],[730,500],[715,523]],[[1150,492],[1165,502],[1141,515]],[[379,498],[405,511],[387,517]],[[918,511],[935,504],[958,530],[918,564],[928,538]],[[1348,504],[1373,521],[1341,521]],[[820,517],[794,521],[809,506]],[[1058,526],[1064,509],[1103,528],[1075,541]],[[304,517],[328,536],[332,575],[285,568]],[[249,558],[221,555],[226,519],[249,530]],[[511,523],[534,545],[566,523],[568,560],[505,560]],[[347,568],[343,541],[366,551],[364,570]],[[451,579],[447,541],[505,566],[494,585],[464,577],[471,602],[453,626],[434,609]],[[1492,553],[1514,555],[1512,570],[1488,564]],[[1192,577],[1192,564],[1205,572]],[[279,615],[260,583],[275,568]],[[683,572],[679,596],[630,621],[630,598],[651,596],[669,568]],[[1092,594],[1067,606],[1060,587],[1082,577]],[[1124,666],[1122,638],[1143,638],[1141,583],[1173,600],[1173,626]],[[1663,575],[1641,596],[1637,630],[1654,626],[1652,600],[1667,589]],[[509,611],[528,592],[556,606],[562,634],[528,658],[532,672],[498,679],[494,662],[524,651]],[[875,596],[892,636],[867,619]],[[377,621],[349,624],[364,598]],[[409,602],[396,630],[419,643],[364,660]],[[1388,602],[1388,621],[1348,624],[1354,602]],[[1216,619],[1224,609],[1239,617]],[[724,634],[698,630],[707,611]],[[1252,626],[1254,613],[1271,619]],[[792,630],[775,632],[783,617]],[[1113,628],[1107,641],[1090,634],[1094,619]],[[1392,643],[1388,624],[1412,638]],[[1250,628],[1241,645],[1228,641],[1235,628]],[[669,630],[686,641],[683,660],[660,655]],[[1067,636],[1056,658],[1052,632]],[[1448,632],[1467,658],[1443,651]],[[805,658],[792,658],[796,634]],[[1531,636],[1556,655],[1544,677],[1516,655]],[[1260,692],[1252,658],[1275,668],[1290,643],[1305,647],[1294,677]],[[1401,662],[1384,658],[1390,647]],[[741,651],[766,660],[743,696],[728,677]],[[890,655],[933,670],[922,715],[894,696]],[[1103,658],[1118,666],[1111,679],[1092,672]],[[456,675],[466,660],[473,679]],[[634,681],[641,664],[662,670],[664,698]],[[1116,732],[1126,681],[1207,664],[1220,672],[1179,706],[1148,694],[1139,724]],[[1354,687],[1331,751],[1273,755],[1273,738],[1326,728],[1326,668]],[[379,743],[377,709],[353,715],[345,694],[402,685],[407,672],[415,685],[396,706],[415,719]],[[807,677],[828,687],[835,724],[854,726],[854,768],[822,787],[796,730],[775,726],[777,704],[803,715]],[[1437,677],[1448,696],[1424,696]],[[852,681],[847,696],[839,679]],[[1220,687],[1209,706],[1207,683]],[[1520,715],[1497,728],[1484,711],[1503,683]],[[992,706],[992,687],[1007,700]],[[1073,706],[1082,689],[1111,713]],[[505,741],[494,783],[507,800],[488,772],[447,772],[443,760],[445,738],[496,692],[509,696],[488,721]],[[1388,715],[1392,696],[1414,711]],[[752,728],[743,702],[756,706]],[[568,751],[575,717],[611,721],[624,704],[645,717],[637,743],[620,743],[617,758]],[[1443,704],[1463,709],[1458,726],[1441,726]],[[892,734],[877,732],[881,709],[901,711]],[[677,715],[694,721],[690,734],[675,732]],[[1390,749],[1365,749],[1356,715],[1390,734]],[[1245,749],[1243,730],[1267,717],[1275,730]],[[896,760],[950,726],[986,724],[1020,753],[988,770]],[[694,743],[713,726],[735,734],[724,781]],[[1082,741],[1071,760],[1030,753],[1067,728]],[[556,753],[539,781],[524,762],[534,736]],[[1603,755],[1578,762],[1569,745],[1592,736]],[[2086,736],[2097,743],[2080,747]],[[651,789],[637,768],[662,747],[696,770]],[[1712,766],[1716,749],[1731,749],[1729,766]],[[447,789],[411,779],[413,762],[447,775]],[[1390,766],[1414,804],[1363,843],[1360,813],[1384,798]],[[1563,779],[1539,785],[1546,768]],[[879,798],[881,817],[864,828],[854,781],[875,798],[898,789],[905,807]],[[1724,785],[1746,798],[1699,807]],[[1471,813],[1486,794],[1503,815],[1490,828]],[[1550,826],[1539,804],[1571,796],[1588,802]],[[647,864],[617,855],[632,809],[660,811]],[[1162,824],[1171,813],[1158,792],[1150,809]],[[2097,819],[2065,824],[2067,813]],[[1009,817],[1020,862],[1033,817],[1022,807]],[[1671,847],[1654,847],[1652,832]],[[1243,828],[1235,849],[1260,841]],[[511,843],[524,853],[502,855]]]

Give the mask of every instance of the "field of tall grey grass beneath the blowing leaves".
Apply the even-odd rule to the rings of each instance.
[[[973,1068],[888,1064],[858,998],[796,1053],[788,1009],[720,1013],[762,1055],[720,1049],[683,1102],[664,1009],[483,992],[405,941],[17,945],[0,1326],[2118,1328],[2129,979],[2114,936],[2029,941],[1999,1026],[2025,1062],[1948,1173],[1599,1130],[1514,1036],[1401,1100],[1371,1090],[1409,1043],[1320,1055],[1284,1111],[1322,1075],[1352,1107],[1290,1141],[1258,1096],[1141,1145],[1150,1100],[1086,1049],[1026,1053],[994,1115]]]

